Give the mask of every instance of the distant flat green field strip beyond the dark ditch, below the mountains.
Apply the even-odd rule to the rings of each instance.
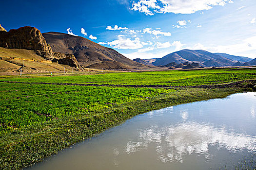
[[[255,79],[256,68],[225,68],[204,70],[172,70],[145,72],[106,72],[86,75],[68,76],[29,76],[0,78],[0,81],[44,82],[44,83],[78,83],[110,85],[216,85],[239,80]]]

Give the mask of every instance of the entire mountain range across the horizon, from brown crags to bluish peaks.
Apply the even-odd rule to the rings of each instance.
[[[25,64],[23,64],[25,61]],[[181,50],[162,58],[134,59],[84,37],[64,33],[41,34],[35,27],[7,32],[0,25],[0,71],[121,69],[159,70],[256,65],[256,59],[203,50]]]

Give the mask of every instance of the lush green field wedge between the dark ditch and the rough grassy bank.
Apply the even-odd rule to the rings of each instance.
[[[0,134],[52,119],[94,113],[126,102],[146,100],[171,89],[27,85],[0,83]]]

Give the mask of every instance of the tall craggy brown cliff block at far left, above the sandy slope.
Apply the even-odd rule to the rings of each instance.
[[[21,27],[9,32],[1,32],[0,47],[9,49],[35,50],[43,57],[52,57],[53,51],[38,29]]]

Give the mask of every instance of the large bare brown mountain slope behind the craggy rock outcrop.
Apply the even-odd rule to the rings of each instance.
[[[84,67],[102,67],[107,69],[156,68],[154,66],[146,66],[132,61],[113,49],[103,47],[80,36],[56,32],[43,33],[43,36],[46,39],[47,44],[52,47],[53,51],[74,54],[79,64]]]

